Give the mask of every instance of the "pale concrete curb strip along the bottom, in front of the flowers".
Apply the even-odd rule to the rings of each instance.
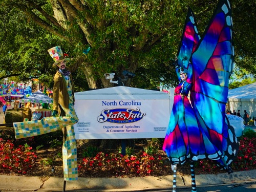
[[[256,169],[228,174],[196,175],[197,186],[222,185],[256,182]],[[169,189],[173,186],[173,176],[132,177],[132,178],[78,178],[67,181],[66,190],[88,191],[134,191]],[[191,186],[190,176],[177,175],[177,188]],[[0,191],[62,191],[63,178],[50,177],[41,181],[38,177],[0,175]]]

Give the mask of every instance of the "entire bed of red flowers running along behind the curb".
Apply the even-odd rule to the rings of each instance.
[[[241,137],[239,139],[240,148],[238,158],[232,164],[233,170],[255,169],[256,138]],[[0,138],[0,174],[27,174],[30,176],[38,176],[38,174],[40,176],[41,174],[63,177],[61,146],[54,147],[54,150],[46,148],[33,152],[32,147],[27,144],[14,145],[13,142]],[[159,146],[154,146],[154,142],[147,144],[144,151],[130,150],[129,153],[126,152],[125,156],[122,156],[118,150],[99,152],[97,147],[88,147],[88,149],[84,152],[78,148],[79,177],[140,177],[173,174],[166,154],[158,150]],[[56,172],[54,173],[51,172],[52,166],[55,166]],[[178,165],[177,170],[179,174],[190,175],[189,163]],[[195,170],[196,174],[221,172],[219,167],[205,159],[195,162]]]

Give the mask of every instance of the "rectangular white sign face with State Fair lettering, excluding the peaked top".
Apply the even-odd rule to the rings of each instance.
[[[169,100],[76,100],[76,139],[164,138]]]

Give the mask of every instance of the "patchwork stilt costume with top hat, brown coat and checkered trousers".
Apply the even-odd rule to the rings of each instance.
[[[48,51],[55,60],[53,66],[56,66],[60,61],[70,60],[69,58],[63,58],[63,53],[59,46]],[[53,110],[58,111],[59,117],[44,117],[41,120],[13,123],[17,139],[42,135],[62,129],[64,136],[62,157],[65,181],[78,179],[77,147],[73,127],[73,124],[78,122],[78,118],[74,110],[74,91],[71,73],[76,71],[86,58],[87,55],[83,54],[73,65],[67,67],[65,74],[58,70],[54,76]]]

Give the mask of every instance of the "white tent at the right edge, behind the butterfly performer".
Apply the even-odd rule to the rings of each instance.
[[[228,108],[233,111],[241,111],[243,117],[244,110],[251,118],[256,118],[256,83],[228,91]]]

